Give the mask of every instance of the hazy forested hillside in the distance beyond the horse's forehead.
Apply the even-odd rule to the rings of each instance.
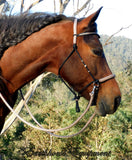
[[[104,45],[109,36],[102,35]],[[114,73],[123,71],[128,61],[132,61],[132,40],[125,37],[113,37],[108,45],[104,45],[104,52],[111,70]]]

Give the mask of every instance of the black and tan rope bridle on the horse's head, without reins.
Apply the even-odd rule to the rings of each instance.
[[[80,112],[80,108],[79,108],[79,104],[78,104],[78,100],[81,97],[81,94],[91,85],[93,84],[93,90],[95,90],[95,95],[97,96],[98,94],[98,90],[99,90],[99,86],[100,83],[103,83],[107,80],[110,80],[112,78],[115,77],[114,74],[111,74],[109,76],[106,76],[104,78],[101,79],[96,79],[93,74],[90,72],[90,70],[88,69],[88,66],[85,64],[85,62],[83,61],[81,55],[78,52],[78,47],[77,47],[77,37],[80,36],[85,36],[85,35],[97,35],[98,37],[100,37],[96,32],[83,32],[83,33],[79,33],[77,34],[77,19],[74,20],[74,25],[73,25],[73,50],[71,51],[71,53],[68,55],[68,57],[64,60],[64,62],[61,64],[60,68],[59,68],[59,72],[58,75],[60,77],[60,79],[64,82],[64,84],[68,87],[68,89],[74,94],[75,98],[74,100],[76,100],[76,112]],[[83,64],[84,68],[86,68],[88,74],[90,74],[90,76],[92,77],[93,81],[91,81],[90,83],[88,83],[86,86],[84,86],[79,92],[78,94],[76,94],[76,92],[65,82],[65,80],[61,77],[60,72],[62,67],[64,66],[64,64],[68,61],[68,59],[73,55],[73,53],[76,52],[81,63]]]

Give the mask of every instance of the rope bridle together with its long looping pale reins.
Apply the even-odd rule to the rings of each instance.
[[[27,104],[26,104],[26,100],[24,98],[24,96],[22,95],[22,99],[23,99],[23,102],[24,102],[24,105],[26,106],[26,109],[29,113],[29,115],[32,117],[32,119],[34,120],[34,122],[38,125],[37,126],[34,126],[33,124],[25,121],[23,118],[21,118],[13,109],[12,107],[7,103],[7,101],[5,100],[5,98],[3,97],[2,93],[0,93],[0,98],[2,99],[2,101],[5,103],[5,105],[8,107],[8,109],[18,118],[20,119],[23,123],[25,123],[26,125],[32,127],[32,128],[35,128],[35,129],[38,129],[38,130],[41,130],[41,131],[44,131],[44,132],[47,132],[48,134],[50,134],[51,136],[55,136],[55,137],[58,137],[58,138],[70,138],[70,137],[73,137],[73,136],[76,136],[78,134],[80,134],[81,132],[83,132],[88,124],[92,121],[92,119],[94,118],[94,116],[96,115],[96,113],[93,113],[93,115],[89,118],[88,122],[85,124],[85,126],[77,133],[75,134],[72,134],[72,135],[66,135],[66,136],[61,136],[61,135],[56,135],[54,134],[54,132],[58,132],[58,131],[64,131],[64,130],[67,130],[71,127],[73,127],[74,125],[76,125],[81,119],[82,117],[87,113],[87,111],[89,110],[91,104],[92,104],[92,101],[94,99],[94,96],[95,96],[95,92],[96,90],[99,89],[99,84],[100,83],[103,83],[109,79],[112,79],[115,77],[115,75],[111,74],[109,76],[106,76],[104,78],[101,78],[101,79],[95,79],[94,76],[92,75],[92,73],[90,72],[90,70],[88,69],[87,65],[85,64],[85,62],[83,61],[83,59],[81,58],[78,50],[77,50],[77,44],[76,44],[76,41],[77,41],[77,37],[78,36],[84,36],[84,35],[97,35],[99,36],[96,32],[85,32],[85,33],[80,33],[80,34],[77,34],[77,19],[74,20],[74,34],[73,34],[73,50],[72,52],[69,54],[69,56],[65,59],[65,61],[62,63],[62,65],[60,66],[59,68],[59,77],[61,78],[61,80],[64,82],[64,84],[68,87],[68,89],[75,95],[75,100],[76,100],[76,111],[79,112],[80,109],[79,109],[79,105],[78,105],[78,100],[80,98],[80,94],[87,88],[89,87],[91,84],[93,84],[93,89],[92,89],[92,92],[90,93],[90,101],[89,101],[89,104],[87,106],[87,108],[85,109],[85,111],[82,113],[82,115],[75,121],[73,122],[71,125],[65,127],[65,128],[60,128],[60,129],[45,129],[43,128],[43,126],[41,124],[39,124],[39,122],[34,118],[34,116],[32,115],[32,113],[30,112]],[[61,69],[62,67],[64,66],[64,64],[66,63],[66,61],[71,57],[71,55],[76,52],[77,55],[79,56],[81,62],[83,63],[84,67],[86,68],[87,72],[90,74],[90,76],[93,78],[93,81],[90,82],[88,85],[86,85],[85,87],[83,87],[79,92],[78,92],[78,95],[76,94],[76,92],[63,80],[63,78],[61,77],[60,75],[60,72],[61,72]]]

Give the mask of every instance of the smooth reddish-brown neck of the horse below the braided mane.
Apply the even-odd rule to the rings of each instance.
[[[58,74],[62,46],[59,38],[51,39],[46,29],[42,29],[10,47],[0,61],[10,94],[45,71]]]

